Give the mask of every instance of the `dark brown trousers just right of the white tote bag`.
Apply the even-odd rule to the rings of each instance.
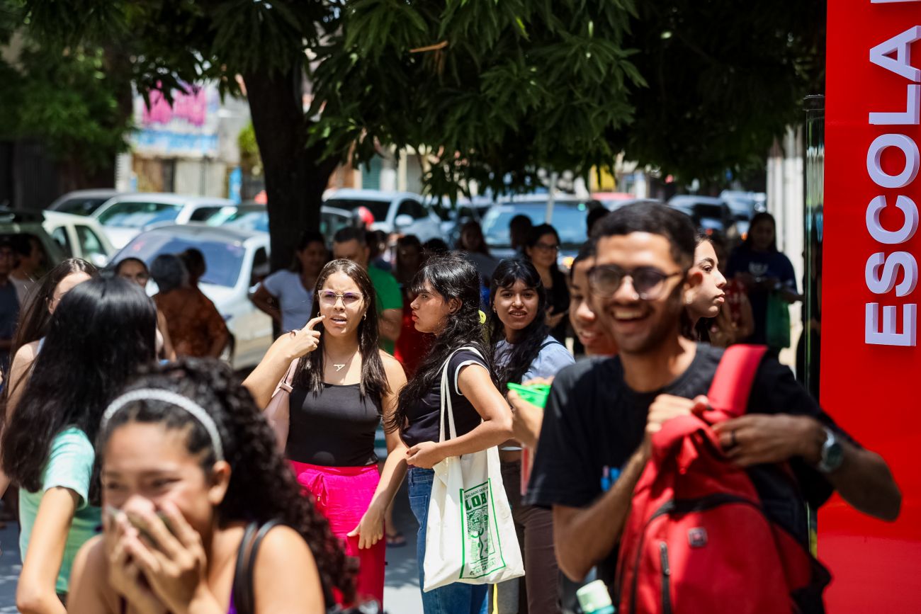
[[[524,557],[524,577],[495,585],[494,614],[560,614],[553,512],[521,504],[520,461],[502,463],[502,481]],[[494,604],[496,605],[495,609]]]

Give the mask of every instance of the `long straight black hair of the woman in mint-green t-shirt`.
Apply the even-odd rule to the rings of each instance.
[[[52,440],[67,427],[96,438],[106,406],[153,362],[156,330],[157,308],[137,284],[96,278],[64,295],[4,430],[3,469],[12,481],[41,490]]]

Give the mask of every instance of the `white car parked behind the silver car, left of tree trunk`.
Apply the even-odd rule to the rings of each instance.
[[[115,196],[92,216],[105,228],[112,245],[121,249],[148,228],[204,222],[212,215],[233,211],[236,207],[236,203],[226,198],[141,192]]]

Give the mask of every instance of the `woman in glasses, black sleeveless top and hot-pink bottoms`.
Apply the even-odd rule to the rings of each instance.
[[[406,382],[402,366],[378,348],[374,286],[353,261],[327,264],[317,277],[311,319],[282,335],[243,382],[259,407],[297,360],[285,455],[300,485],[359,562],[356,594],[383,603],[383,519],[402,482],[405,457],[387,435],[381,473],[374,435],[390,419]]]

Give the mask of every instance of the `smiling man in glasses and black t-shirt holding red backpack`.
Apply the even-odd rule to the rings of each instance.
[[[553,508],[565,574],[579,581],[597,565],[613,591],[648,438],[705,409],[723,351],[681,334],[683,291],[694,283],[690,218],[664,205],[630,205],[600,220],[593,241],[590,300],[619,354],[567,367],[554,380],[526,502]],[[898,516],[901,495],[886,463],[837,427],[774,358],[759,365],[746,414],[714,429],[724,453],[748,470],[765,513],[804,547],[806,503],[815,509],[834,490],[866,514]],[[777,463],[788,463],[795,488],[771,490]],[[799,608],[821,612],[821,595],[811,597]]]

